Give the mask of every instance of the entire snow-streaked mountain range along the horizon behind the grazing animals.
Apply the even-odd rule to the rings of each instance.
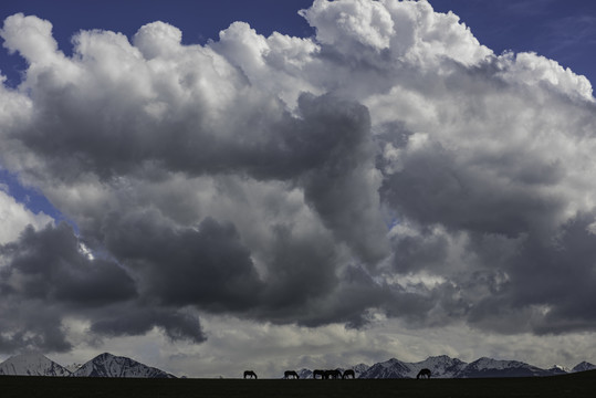
[[[483,357],[472,363],[464,363],[458,358],[441,355],[428,357],[418,363],[405,363],[391,358],[373,366],[359,364],[351,367],[354,369],[356,378],[369,379],[415,378],[418,371],[424,368],[430,369],[433,378],[478,378],[554,376],[596,369],[596,365],[582,362],[571,370],[561,366],[542,369],[517,360],[498,360]],[[0,364],[0,375],[175,378],[164,370],[108,353],[101,354],[83,365],[71,367],[63,367],[39,353],[17,355]],[[313,371],[302,369],[299,375],[301,379],[307,379],[313,377]]]

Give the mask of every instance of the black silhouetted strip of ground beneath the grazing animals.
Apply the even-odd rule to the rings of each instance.
[[[0,376],[0,397],[596,397],[596,370],[494,379],[243,380]]]

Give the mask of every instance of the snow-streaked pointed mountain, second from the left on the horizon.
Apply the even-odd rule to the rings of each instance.
[[[73,373],[75,377],[175,378],[157,368],[108,353],[96,356]]]

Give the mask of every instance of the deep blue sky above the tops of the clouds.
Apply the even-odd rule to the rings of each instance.
[[[60,48],[72,51],[70,38],[81,29],[106,29],[130,36],[138,27],[156,20],[169,22],[184,32],[185,43],[205,43],[233,21],[245,21],[261,34],[273,31],[307,36],[309,23],[296,10],[310,0],[222,0],[206,7],[205,1],[42,1],[7,0],[0,15],[15,12],[35,14],[53,23]],[[596,53],[596,4],[585,0],[435,0],[435,10],[453,11],[480,42],[496,53],[505,50],[534,51],[557,60],[563,66],[586,75],[592,82]],[[18,56],[0,55],[2,71],[11,81],[22,67]]]

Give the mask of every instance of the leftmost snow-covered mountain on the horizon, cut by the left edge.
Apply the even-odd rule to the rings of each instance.
[[[0,364],[0,375],[71,376],[71,373],[40,353],[21,354]]]

